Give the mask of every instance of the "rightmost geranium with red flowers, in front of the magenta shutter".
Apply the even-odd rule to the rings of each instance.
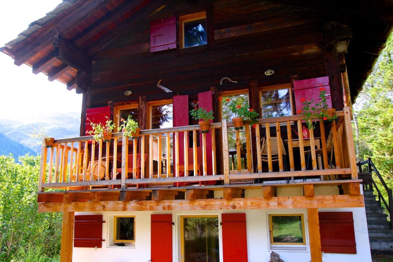
[[[313,99],[306,99],[306,98],[301,98],[301,102],[303,102],[303,109],[298,110],[298,114],[301,114],[304,116],[304,119],[306,120],[307,128],[308,129],[315,129],[315,122],[314,124],[312,123],[313,119],[321,119],[321,120],[328,120],[332,121],[337,118],[336,115],[329,115],[327,113],[327,110],[329,109],[329,106],[326,103],[326,89],[324,87],[320,88],[320,98],[321,102],[314,104]]]

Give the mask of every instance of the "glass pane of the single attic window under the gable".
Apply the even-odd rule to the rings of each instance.
[[[184,22],[184,47],[207,44],[206,18]]]

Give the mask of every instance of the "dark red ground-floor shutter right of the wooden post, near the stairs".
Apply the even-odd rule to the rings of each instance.
[[[325,253],[356,254],[352,212],[318,212]]]

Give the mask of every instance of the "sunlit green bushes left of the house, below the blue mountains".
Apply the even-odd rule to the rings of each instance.
[[[19,163],[12,155],[0,156],[1,261],[59,255],[61,213],[37,212],[39,165],[39,156],[24,155]]]

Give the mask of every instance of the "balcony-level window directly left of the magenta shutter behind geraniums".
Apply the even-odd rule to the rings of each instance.
[[[263,87],[259,91],[262,118],[292,115],[290,84]]]

